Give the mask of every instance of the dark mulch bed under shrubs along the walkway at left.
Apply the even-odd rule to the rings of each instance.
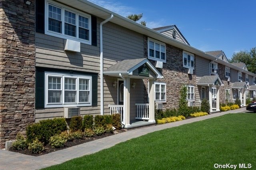
[[[122,132],[125,132],[125,130],[121,129],[121,130],[118,130],[118,132],[122,133]],[[18,153],[21,153],[21,154],[27,154],[27,155],[31,155],[31,156],[40,156],[40,155],[43,155],[43,154],[48,154],[50,152],[54,152],[56,150],[66,149],[66,148],[69,148],[69,147],[80,145],[82,143],[94,141],[94,140],[101,139],[101,138],[108,137],[108,136],[112,136],[112,135],[114,135],[114,134],[113,133],[104,133],[101,136],[94,135],[93,137],[90,137],[90,138],[89,137],[84,137],[83,139],[74,139],[73,141],[66,142],[64,147],[62,147],[62,148],[52,148],[52,146],[50,144],[47,144],[46,146],[44,146],[44,151],[42,153],[40,153],[40,154],[32,154],[30,152],[30,150],[28,150],[28,149],[25,149],[25,150],[14,150],[13,147],[11,147],[9,149],[9,151],[18,152]]]

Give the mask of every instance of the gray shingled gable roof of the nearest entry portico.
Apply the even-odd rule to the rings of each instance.
[[[103,74],[131,74],[132,71],[136,70],[145,63],[156,74],[156,78],[163,78],[162,74],[153,66],[153,64],[150,63],[147,58],[120,61],[104,70]]]

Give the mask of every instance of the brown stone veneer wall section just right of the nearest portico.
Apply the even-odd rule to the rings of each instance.
[[[144,57],[148,57],[148,37],[144,35]],[[155,61],[150,62],[155,65]],[[196,61],[195,61],[196,62]],[[194,63],[194,65],[196,65]],[[196,69],[196,68],[195,68]],[[196,93],[196,75],[188,74],[188,68],[183,67],[183,50],[172,45],[166,44],[166,63],[162,69],[158,69],[164,76],[162,79],[157,79],[157,82],[166,83],[166,103],[163,103],[163,109],[178,108],[180,98],[180,88],[182,85],[193,85]],[[148,101],[148,83],[144,80],[144,102]],[[195,95],[196,101],[196,95]],[[195,102],[194,102],[195,106]]]

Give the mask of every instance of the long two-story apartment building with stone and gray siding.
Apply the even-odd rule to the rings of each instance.
[[[183,85],[188,106],[206,98],[211,112],[255,96],[255,74],[191,47],[176,25],[150,29],[89,1],[30,2],[0,2],[0,148],[54,117],[120,113],[127,129],[154,124],[155,102],[178,107]]]

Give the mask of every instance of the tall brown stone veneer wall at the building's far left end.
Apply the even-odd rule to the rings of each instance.
[[[34,0],[0,2],[0,148],[34,122],[34,8]]]

